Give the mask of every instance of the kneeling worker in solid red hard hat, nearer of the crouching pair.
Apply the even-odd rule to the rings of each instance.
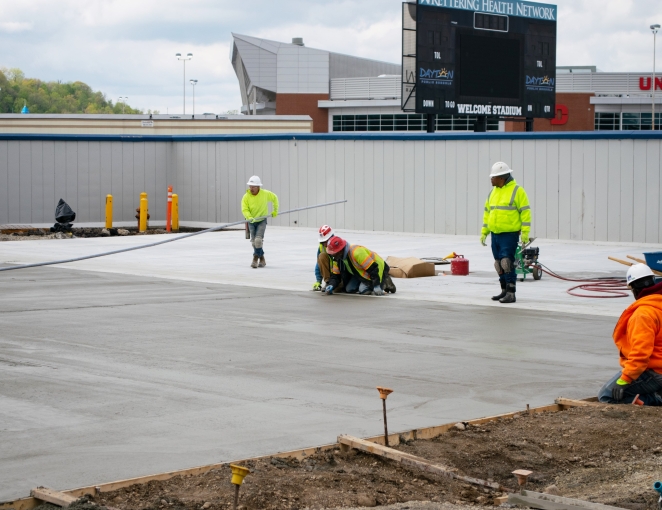
[[[324,294],[331,295],[342,283],[349,294],[395,294],[395,285],[388,274],[389,267],[375,252],[358,244],[348,244],[338,236],[329,239],[326,252],[333,257],[337,266]]]

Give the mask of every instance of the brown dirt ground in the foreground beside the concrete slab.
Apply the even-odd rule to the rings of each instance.
[[[662,477],[658,433],[662,409],[582,407],[558,413],[522,413],[433,440],[397,448],[457,468],[461,474],[515,489],[515,469],[533,471],[527,489],[554,485],[562,496],[644,510],[657,508],[653,483]],[[407,502],[493,505],[502,495],[428,475],[370,454],[339,449],[303,461],[248,461],[241,488],[246,510],[336,509]],[[102,493],[94,503],[120,510],[232,508],[226,465],[204,475],[152,481]],[[397,508],[407,508],[407,505]],[[426,506],[412,506],[427,508]],[[432,508],[446,508],[434,505]]]

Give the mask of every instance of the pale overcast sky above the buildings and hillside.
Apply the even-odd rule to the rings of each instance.
[[[554,3],[554,2],[549,2]],[[558,65],[648,71],[662,0],[558,0]],[[400,61],[399,0],[20,0],[0,1],[0,67],[28,77],[84,81],[114,102],[182,111],[182,63],[198,80],[196,112],[239,109],[230,33],[389,62]],[[661,34],[662,35],[662,34]],[[662,37],[658,38],[662,39]],[[658,45],[662,53],[662,43]],[[658,69],[662,58],[658,55]],[[1,92],[0,92],[1,93]]]

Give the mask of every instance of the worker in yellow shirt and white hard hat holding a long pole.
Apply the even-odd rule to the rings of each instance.
[[[248,189],[241,199],[241,212],[248,221],[248,229],[251,234],[251,244],[253,245],[253,262],[251,267],[264,267],[267,262],[264,260],[264,232],[267,229],[266,216],[269,215],[268,202],[272,203],[273,212],[271,217],[278,216],[278,197],[275,193],[262,188],[262,181],[257,175],[248,179]],[[257,218],[263,218],[256,220]]]

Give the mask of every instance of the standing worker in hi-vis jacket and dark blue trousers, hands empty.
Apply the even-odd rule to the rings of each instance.
[[[514,303],[517,283],[515,252],[520,235],[523,245],[529,242],[531,206],[526,191],[515,182],[506,163],[495,163],[490,178],[493,188],[485,202],[480,242],[487,246],[485,240],[488,234],[492,234],[494,268],[501,284],[501,294],[492,299]]]

